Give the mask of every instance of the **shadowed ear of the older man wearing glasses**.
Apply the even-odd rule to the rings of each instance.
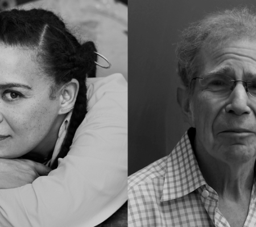
[[[189,104],[189,95],[185,87],[177,88],[177,103],[179,103],[181,111],[183,112],[185,121],[195,128],[193,122],[193,112]]]

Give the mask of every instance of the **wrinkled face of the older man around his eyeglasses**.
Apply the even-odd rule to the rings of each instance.
[[[256,41],[233,41],[213,51],[202,51],[199,77],[213,72],[250,81],[256,77]],[[225,163],[246,163],[256,157],[256,98],[242,82],[228,96],[216,95],[195,83],[191,124],[196,128],[196,151]]]

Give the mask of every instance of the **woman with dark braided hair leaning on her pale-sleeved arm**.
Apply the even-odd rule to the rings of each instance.
[[[126,82],[85,84],[96,64],[52,12],[0,12],[0,226],[95,226],[125,202]]]

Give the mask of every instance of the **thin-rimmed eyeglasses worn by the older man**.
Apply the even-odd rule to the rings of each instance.
[[[242,82],[245,91],[249,93],[251,96],[256,97],[256,78],[251,79],[251,81],[241,81],[241,80],[234,80],[233,78],[229,77],[228,75],[208,75],[206,77],[194,77],[192,81],[199,79],[199,85],[203,89],[207,89],[212,91],[216,95],[228,96],[232,93],[234,87],[236,87],[237,82]]]

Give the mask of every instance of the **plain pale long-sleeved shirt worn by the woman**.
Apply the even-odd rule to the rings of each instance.
[[[127,200],[127,82],[113,74],[87,86],[89,111],[57,169],[0,190],[1,227],[95,226]]]

